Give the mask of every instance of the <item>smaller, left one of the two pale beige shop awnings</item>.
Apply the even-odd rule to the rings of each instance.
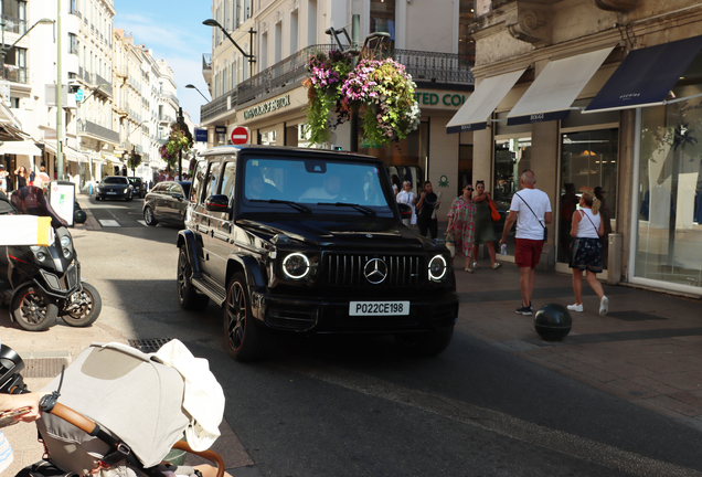
[[[494,108],[512,89],[526,68],[482,80],[466,104],[446,125],[446,132],[462,132],[485,129]]]

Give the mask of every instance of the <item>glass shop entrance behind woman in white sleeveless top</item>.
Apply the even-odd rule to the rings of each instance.
[[[607,267],[608,235],[616,229],[618,129],[568,132],[561,136],[561,198],[556,259],[568,263],[571,224],[579,197],[595,192],[604,221],[603,265]]]

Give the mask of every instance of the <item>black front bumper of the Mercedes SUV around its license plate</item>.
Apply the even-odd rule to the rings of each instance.
[[[402,332],[426,331],[456,324],[458,295],[456,292],[437,292],[430,297],[387,296],[382,300],[368,296],[345,298],[310,298],[270,295],[264,290],[252,294],[252,312],[270,329],[312,332]],[[410,301],[410,315],[351,316],[350,301]]]

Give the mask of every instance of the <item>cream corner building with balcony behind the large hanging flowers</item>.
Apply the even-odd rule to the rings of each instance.
[[[389,33],[382,54],[403,63],[417,84],[421,125],[406,139],[381,147],[362,139],[352,145],[344,124],[322,147],[379,157],[391,173],[415,187],[429,179],[453,199],[472,180],[472,135],[446,132],[472,91],[472,45],[459,22],[467,24],[471,7],[471,1],[214,0],[213,20],[221,28],[212,28],[212,53],[203,56],[213,99],[201,109],[209,144],[232,144],[241,126],[252,144],[308,146],[305,66],[316,52],[338,49],[330,29],[339,32],[343,49],[352,47],[342,30],[352,36],[358,18],[360,43],[371,33]]]

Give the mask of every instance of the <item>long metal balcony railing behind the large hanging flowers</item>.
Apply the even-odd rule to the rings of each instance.
[[[318,44],[307,46],[249,80],[240,83],[234,89],[201,106],[201,121],[206,121],[225,113],[230,104],[230,97],[232,106],[241,106],[286,85],[301,82],[308,74],[307,62],[309,57],[317,52],[328,53],[331,50],[337,50],[337,45]],[[398,63],[404,64],[406,72],[412,75],[415,82],[454,83],[462,85],[471,85],[475,83],[475,76],[470,71],[470,66],[458,54],[416,50],[392,50],[387,51],[384,57],[393,57]],[[203,55],[203,65],[204,64]]]

